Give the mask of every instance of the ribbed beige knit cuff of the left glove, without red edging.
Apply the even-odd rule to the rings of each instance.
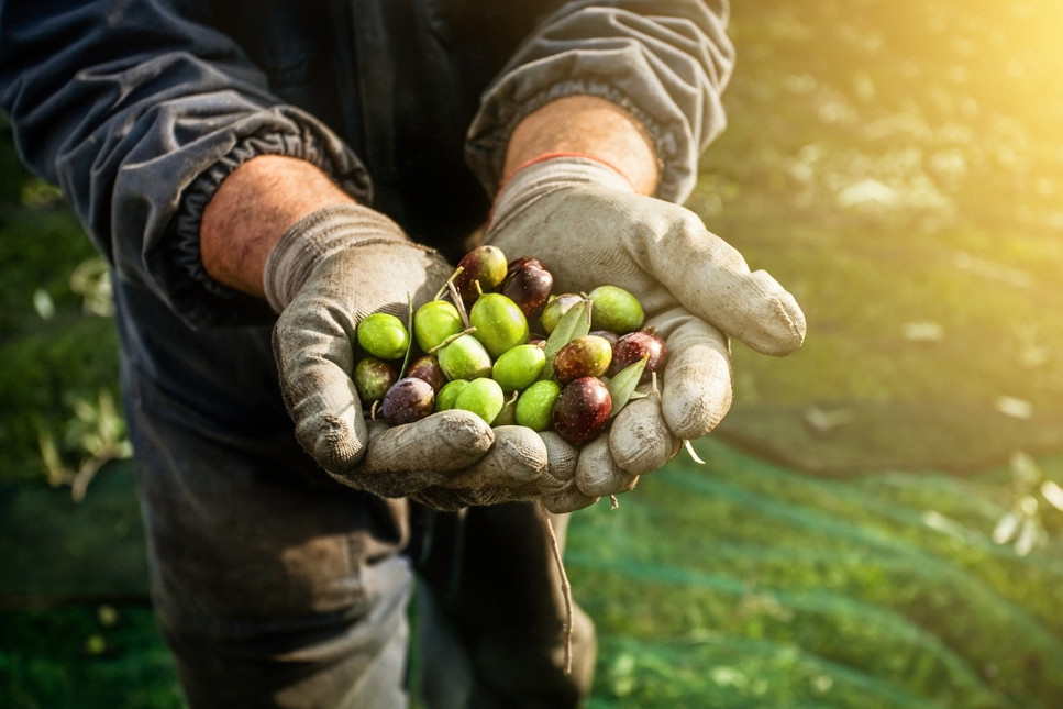
[[[303,217],[281,234],[266,258],[266,300],[279,313],[322,259],[352,246],[381,242],[409,243],[398,224],[368,207],[334,204]]]

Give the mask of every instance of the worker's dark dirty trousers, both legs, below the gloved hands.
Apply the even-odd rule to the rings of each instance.
[[[191,707],[405,707],[414,587],[429,707],[580,702],[593,625],[577,612],[565,675],[538,507],[441,513],[333,481],[292,436],[272,325],[193,331],[114,290],[154,603]]]

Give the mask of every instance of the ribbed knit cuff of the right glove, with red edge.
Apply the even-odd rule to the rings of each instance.
[[[554,190],[579,185],[635,192],[628,178],[608,163],[578,153],[551,153],[524,163],[510,175],[495,197],[489,229],[500,229]]]

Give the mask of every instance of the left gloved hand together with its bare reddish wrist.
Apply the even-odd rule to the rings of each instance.
[[[280,313],[274,351],[296,437],[336,479],[446,509],[557,487],[541,439],[467,411],[395,428],[366,421],[351,378],[358,322],[405,320],[453,269],[313,166],[264,157],[239,168],[204,212],[201,252],[212,276]]]

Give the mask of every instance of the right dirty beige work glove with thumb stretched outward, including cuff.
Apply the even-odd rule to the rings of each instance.
[[[690,210],[636,193],[595,159],[561,156],[518,170],[496,198],[485,242],[509,258],[542,261],[555,292],[628,289],[671,353],[658,395],[632,400],[608,436],[569,452],[562,467],[575,455],[573,485],[550,498],[555,511],[630,489],[720,422],[731,403],[728,337],[785,355],[805,336],[800,308],[772,276],[751,273]]]

